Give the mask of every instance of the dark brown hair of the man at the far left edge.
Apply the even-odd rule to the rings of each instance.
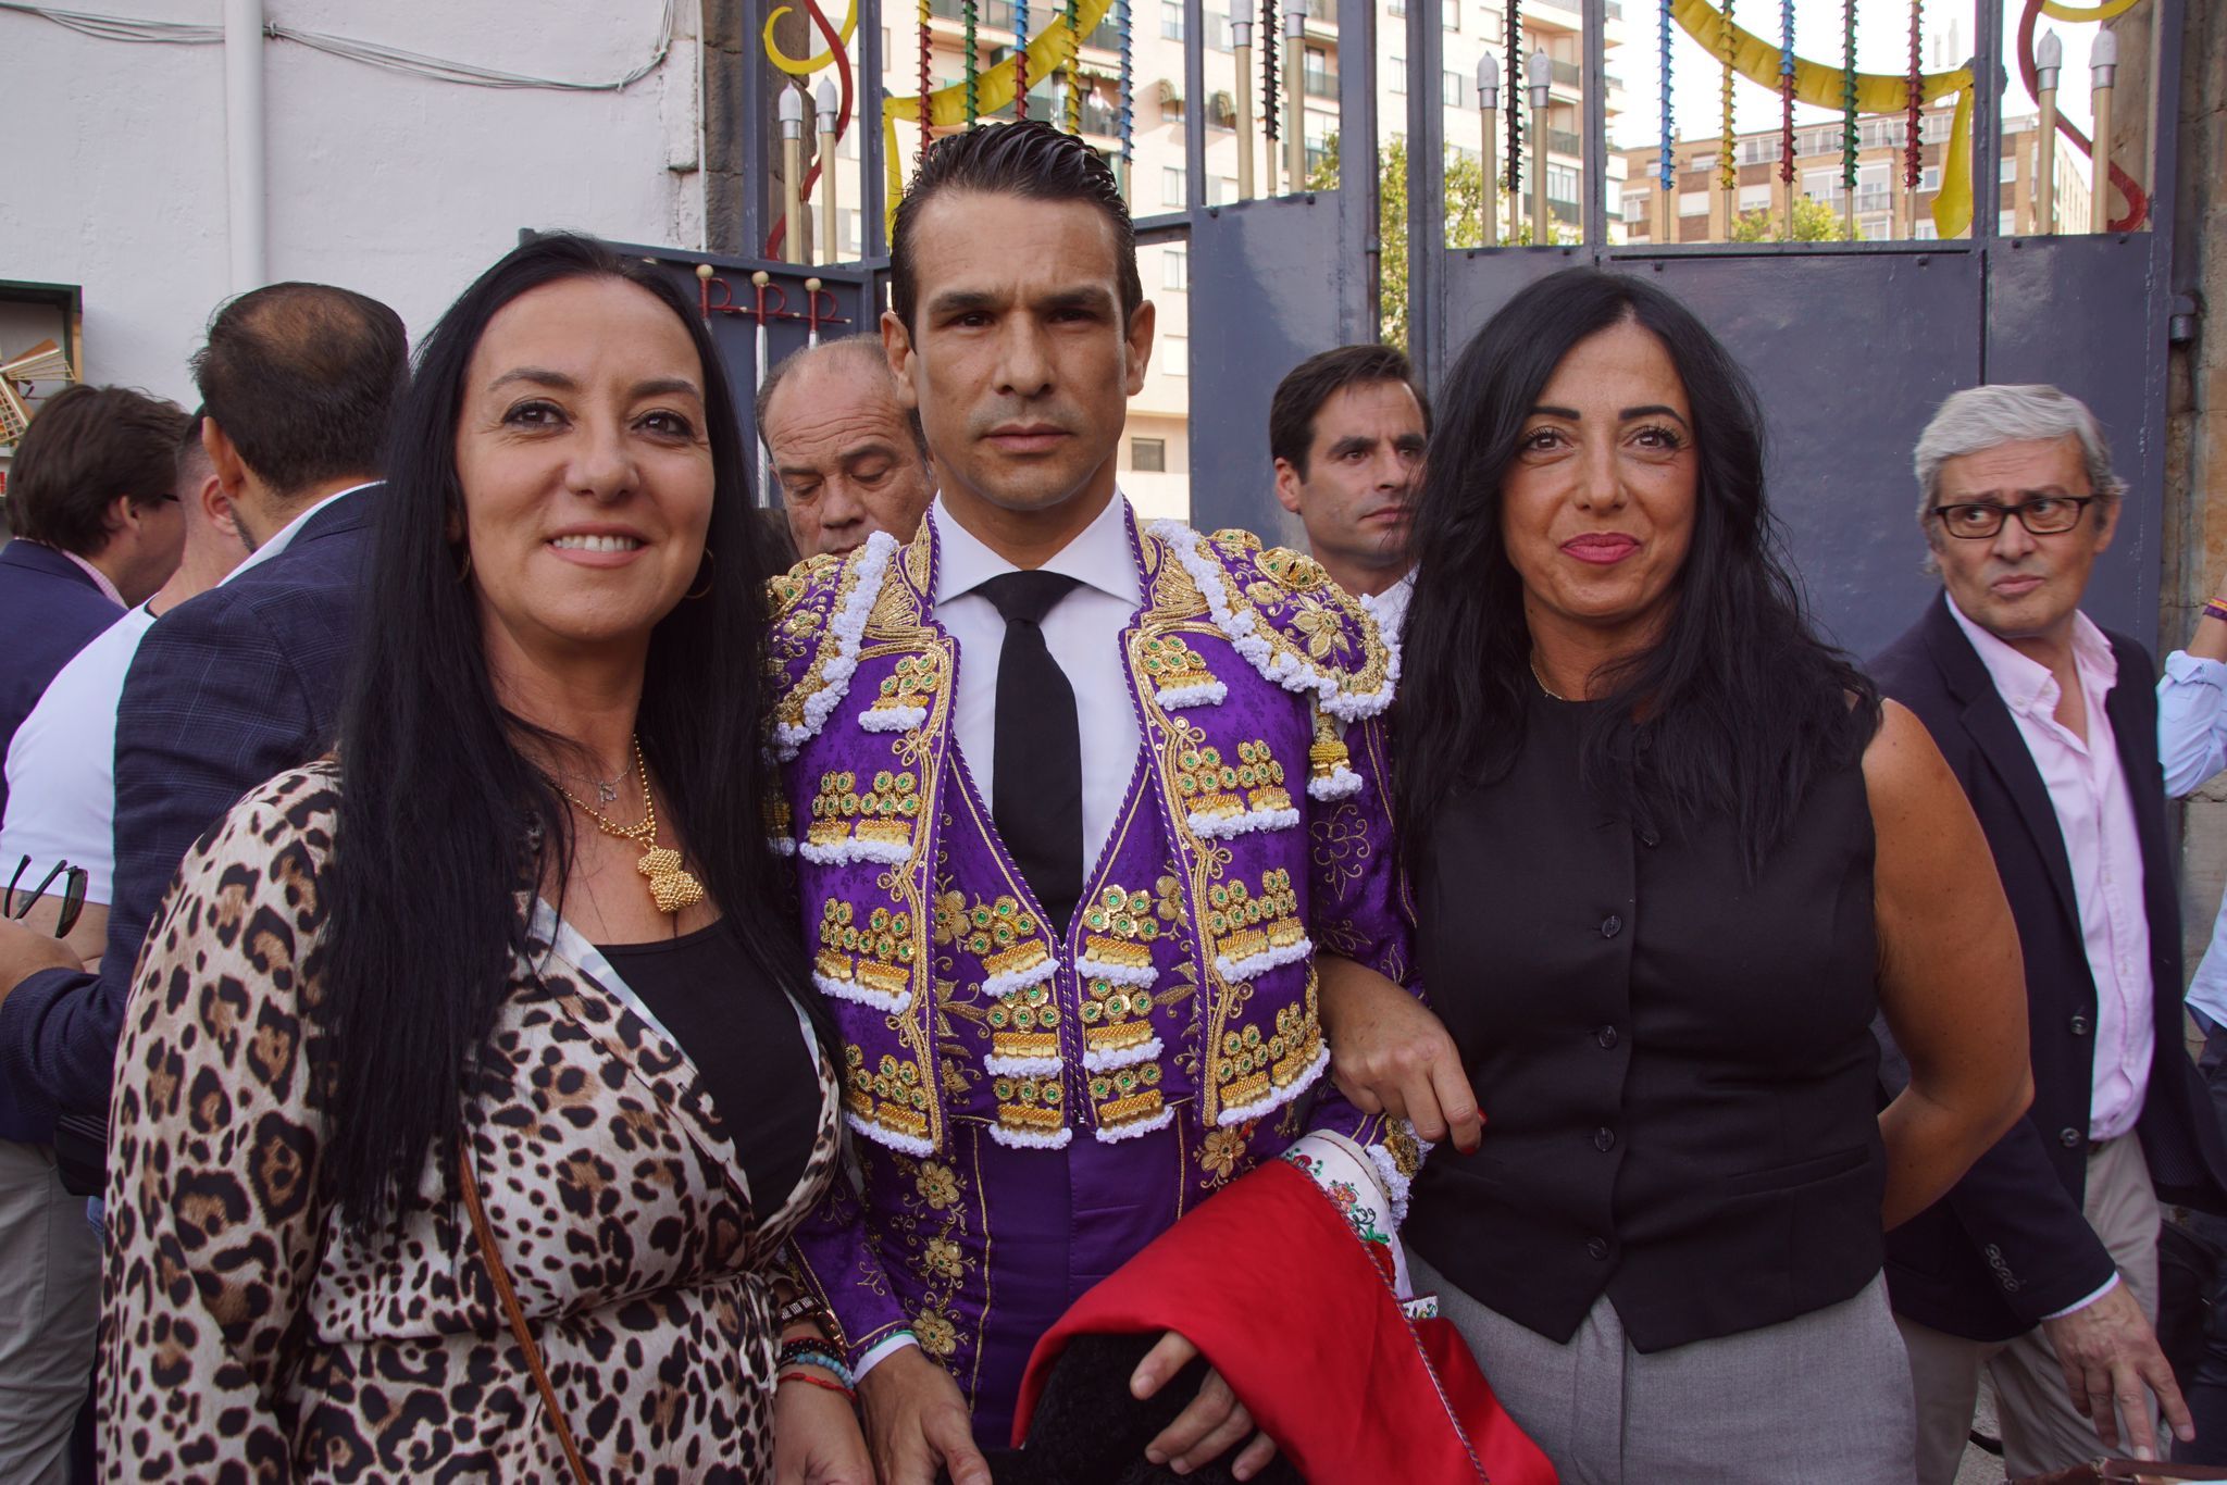
[[[18,537],[91,557],[109,543],[109,503],[178,492],[185,410],[131,387],[62,387],[16,445],[9,519]]]

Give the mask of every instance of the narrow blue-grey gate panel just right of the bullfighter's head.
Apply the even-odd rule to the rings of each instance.
[[[1191,525],[1243,525],[1307,550],[1276,503],[1267,403],[1294,365],[1338,345],[1345,283],[1336,194],[1247,200],[1191,220]]]

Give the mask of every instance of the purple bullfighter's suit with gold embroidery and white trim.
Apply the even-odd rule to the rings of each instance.
[[[1060,940],[953,744],[933,525],[775,579],[775,837],[864,1180],[797,1251],[853,1360],[911,1329],[1002,1443],[1067,1305],[1305,1129],[1363,1144],[1401,1207],[1414,1140],[1316,1086],[1314,980],[1316,946],[1405,980],[1399,661],[1309,557],[1131,519],[1142,748]]]

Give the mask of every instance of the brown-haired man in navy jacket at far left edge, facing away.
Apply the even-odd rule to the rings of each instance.
[[[0,550],[0,755],[53,672],[176,570],[183,432],[176,403],[129,387],[62,387],[31,419],[9,472],[16,539]]]

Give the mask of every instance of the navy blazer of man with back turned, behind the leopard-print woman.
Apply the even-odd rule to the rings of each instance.
[[[109,944],[98,975],[42,971],[0,1002],[0,1138],[51,1138],[56,1111],[107,1115],[140,940],[178,862],[241,795],[332,746],[372,499],[334,501],[140,641],[116,710]]]

